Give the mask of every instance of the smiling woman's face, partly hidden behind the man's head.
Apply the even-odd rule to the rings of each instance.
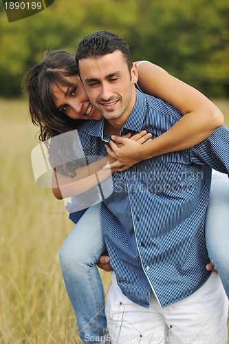
[[[78,75],[66,76],[65,79],[72,86],[52,85],[56,109],[74,120],[100,120],[102,115],[89,102]]]

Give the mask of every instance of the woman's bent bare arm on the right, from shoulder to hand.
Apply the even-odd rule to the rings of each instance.
[[[166,133],[142,147],[136,142],[112,136],[113,141],[121,143],[123,147],[118,149],[116,144],[110,142],[111,149],[107,147],[107,152],[128,166],[157,155],[193,147],[223,125],[223,114],[204,94],[153,63],[144,61],[138,65],[138,85],[143,92],[173,105],[183,117]],[[125,165],[122,171],[124,169]]]

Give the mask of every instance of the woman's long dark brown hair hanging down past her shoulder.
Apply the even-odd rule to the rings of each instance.
[[[72,160],[73,130],[82,120],[74,120],[56,109],[52,86],[71,87],[67,76],[78,74],[75,56],[62,50],[54,50],[45,54],[44,60],[35,65],[25,76],[23,88],[28,96],[32,123],[40,127],[39,140],[45,141],[50,164],[63,175],[74,176],[77,164]],[[59,134],[58,140],[50,140]],[[69,162],[67,158],[69,157]]]

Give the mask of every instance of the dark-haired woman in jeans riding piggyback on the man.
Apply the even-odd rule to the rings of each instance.
[[[142,139],[144,133],[135,138],[137,142],[122,139],[123,147],[119,151],[111,144],[111,148],[118,154],[118,162],[116,155],[107,147],[110,155],[107,159],[112,173],[117,169],[124,171],[146,158],[191,147],[223,124],[221,112],[210,100],[170,76],[164,69],[145,62],[140,63],[138,71],[139,86],[144,92],[166,100],[184,116],[169,131],[147,144],[140,144],[149,139],[149,136]],[[89,103],[80,83],[74,56],[67,52],[47,54],[45,60],[29,72],[26,83],[32,122],[40,126],[40,139],[43,141],[76,129],[82,120],[101,118]],[[91,166],[90,170],[95,168],[95,171],[106,173],[102,166],[107,159],[100,160],[96,166]],[[71,194],[72,187],[68,188],[68,185],[80,180],[81,170],[76,170],[76,166],[71,168],[55,172],[57,187],[54,188],[54,195],[59,199],[76,194],[76,191]],[[84,173],[83,170],[83,175]],[[68,184],[69,180],[71,184]],[[58,186],[61,186],[61,190]],[[82,182],[77,186],[78,193],[85,191]],[[80,217],[60,251],[65,286],[76,314],[80,338],[85,343],[92,341],[92,338],[103,336],[106,332],[104,293],[95,266],[104,252],[105,244],[100,230],[100,210],[97,204]]]

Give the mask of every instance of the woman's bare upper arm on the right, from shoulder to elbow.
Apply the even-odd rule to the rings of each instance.
[[[138,62],[138,85],[142,92],[165,100],[179,110],[182,115],[197,116],[200,124],[199,132],[213,132],[223,125],[223,114],[204,94],[168,74],[163,68],[153,63]],[[201,119],[199,118],[201,117]],[[198,128],[197,128],[198,129]],[[203,136],[204,137],[204,136]]]

